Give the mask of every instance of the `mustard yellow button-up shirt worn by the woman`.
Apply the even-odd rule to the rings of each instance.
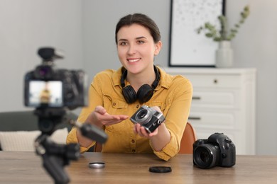
[[[158,106],[165,116],[165,125],[170,132],[170,142],[162,151],[154,151],[149,139],[139,137],[133,132],[133,122],[127,119],[116,125],[103,127],[108,135],[107,142],[102,146],[102,152],[121,152],[121,153],[154,153],[160,159],[168,161],[171,157],[178,154],[180,140],[185,130],[190,113],[190,103],[192,100],[192,84],[183,76],[170,76],[165,71],[158,68],[161,79],[153,93],[151,100],[140,104],[126,103],[122,95],[120,84],[121,69],[114,71],[107,69],[100,72],[92,81],[89,87],[89,105],[82,108],[78,117],[78,122],[85,122],[89,113],[97,105],[102,105],[110,115],[129,115],[131,117],[141,107],[141,105]],[[126,81],[125,81],[126,82]],[[129,85],[126,82],[126,85]],[[67,135],[67,144],[78,143],[76,128],[73,127]],[[89,147],[80,147],[81,153],[87,151]]]

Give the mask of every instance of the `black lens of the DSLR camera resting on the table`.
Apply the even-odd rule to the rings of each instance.
[[[197,146],[193,154],[193,161],[199,168],[217,166],[220,158],[219,147],[211,144]]]

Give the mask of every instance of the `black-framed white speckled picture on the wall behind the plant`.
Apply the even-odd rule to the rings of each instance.
[[[214,67],[218,42],[198,34],[210,22],[219,28],[225,0],[171,0],[169,67]]]

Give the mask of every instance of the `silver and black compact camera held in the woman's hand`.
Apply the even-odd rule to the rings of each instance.
[[[141,126],[151,133],[165,121],[165,117],[157,110],[143,105],[136,111],[136,113],[134,113],[134,115],[131,116],[130,120],[131,122],[141,124]]]

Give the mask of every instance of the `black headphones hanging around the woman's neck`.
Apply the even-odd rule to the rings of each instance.
[[[134,90],[132,86],[126,86],[124,80],[127,76],[127,70],[125,69],[122,73],[120,82],[122,87],[122,93],[127,103],[134,103],[137,99],[140,103],[145,103],[148,100],[150,100],[153,96],[154,89],[158,86],[158,81],[160,81],[160,74],[158,72],[158,68],[154,65],[154,71],[156,74],[156,79],[153,81],[153,84],[149,86],[148,84],[143,84],[139,90],[138,93]]]

